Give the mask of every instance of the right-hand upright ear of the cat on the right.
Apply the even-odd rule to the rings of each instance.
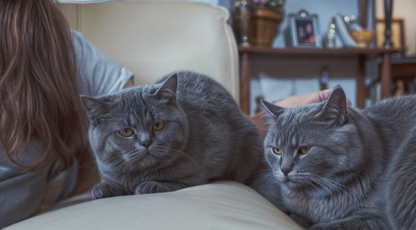
[[[341,86],[336,86],[319,113],[325,120],[342,125],[347,122],[347,98]]]

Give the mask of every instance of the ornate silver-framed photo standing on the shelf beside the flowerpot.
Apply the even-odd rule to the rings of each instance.
[[[322,48],[317,15],[300,10],[289,17],[290,41],[294,48]]]

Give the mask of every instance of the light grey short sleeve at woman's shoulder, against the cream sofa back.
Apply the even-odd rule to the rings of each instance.
[[[134,74],[92,45],[81,33],[72,30],[77,52],[81,93],[90,97],[114,93],[123,88]]]

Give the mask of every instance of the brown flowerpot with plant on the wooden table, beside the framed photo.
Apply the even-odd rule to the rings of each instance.
[[[251,0],[249,39],[253,45],[270,46],[282,21],[283,0]]]

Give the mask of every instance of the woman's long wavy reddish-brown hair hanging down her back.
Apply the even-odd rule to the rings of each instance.
[[[34,164],[19,164],[25,171],[54,159],[68,169],[75,155],[86,154],[76,60],[55,0],[0,1],[0,156],[19,164],[18,153],[32,139],[40,142],[41,153]]]

